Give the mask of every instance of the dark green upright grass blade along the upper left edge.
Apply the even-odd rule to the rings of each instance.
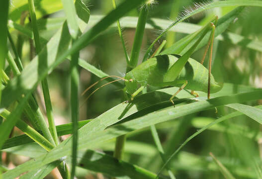
[[[7,55],[7,18],[9,0],[4,0],[0,6],[0,71],[4,69],[5,57]],[[0,73],[0,82],[2,73]],[[0,101],[2,90],[0,89]]]

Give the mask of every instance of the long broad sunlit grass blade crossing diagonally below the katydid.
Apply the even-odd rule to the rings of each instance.
[[[233,94],[228,96],[216,97],[209,100],[201,100],[185,105],[179,105],[175,108],[173,106],[165,108],[163,110],[157,111],[155,113],[150,113],[145,116],[137,117],[133,120],[129,120],[119,125],[112,126],[104,131],[96,132],[96,128],[105,127],[105,124],[94,125],[96,120],[88,123],[79,130],[79,149],[94,147],[99,145],[109,139],[115,138],[117,136],[126,134],[133,130],[138,130],[150,125],[154,125],[160,122],[168,121],[171,119],[178,118],[187,114],[195,113],[198,111],[214,108],[215,106],[225,105],[229,103],[245,102],[248,100],[257,100],[262,98],[262,89],[256,90],[254,92],[245,92],[240,94]],[[170,101],[167,101],[170,103]],[[126,108],[128,104],[121,104],[122,110]],[[170,104],[171,105],[171,104]],[[121,110],[118,111],[118,114],[113,113],[114,116],[119,116]],[[113,116],[106,116],[104,120]],[[135,117],[135,116],[133,116]],[[95,121],[95,122],[94,122]],[[118,117],[114,117],[112,123],[118,122]],[[94,131],[94,132],[92,132]],[[86,136],[89,136],[88,138]],[[99,139],[99,140],[97,140]],[[37,167],[44,166],[48,163],[51,163],[63,156],[69,155],[71,151],[72,137],[68,138],[62,142],[56,149],[49,152],[46,155],[40,156],[34,160],[30,160],[22,165],[19,168],[15,168],[3,174],[5,179],[12,179],[16,176],[19,176],[21,173],[26,172],[29,168],[31,170],[36,169]]]

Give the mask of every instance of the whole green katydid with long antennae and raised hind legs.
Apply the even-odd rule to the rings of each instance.
[[[173,98],[182,89],[191,89],[191,94],[198,96],[194,90],[199,90],[207,92],[207,98],[210,98],[210,93],[217,92],[222,88],[222,85],[215,82],[214,77],[211,75],[211,59],[212,59],[212,49],[215,33],[215,24],[217,17],[210,21],[206,26],[196,32],[195,36],[200,36],[197,41],[191,46],[191,48],[184,53],[182,56],[176,54],[169,55],[158,55],[148,59],[147,61],[141,63],[136,68],[128,72],[124,78],[117,76],[108,76],[101,80],[109,77],[116,77],[119,80],[125,82],[124,94],[127,99],[133,100],[133,98],[141,92],[147,85],[155,87],[167,87],[174,86],[180,87],[173,96],[171,96],[170,101],[175,106]],[[199,63],[191,58],[191,54],[194,52],[198,44],[204,38],[204,36],[211,30],[209,41],[202,59]],[[207,54],[209,53],[209,69],[207,70],[202,64]],[[158,50],[159,52],[160,50]],[[98,81],[98,82],[99,82]],[[113,81],[113,82],[115,82]],[[88,89],[96,85],[98,82],[91,85]],[[109,82],[113,83],[113,82]],[[107,84],[105,84],[107,85]],[[105,85],[99,87],[102,88]],[[98,89],[99,89],[98,88]],[[83,94],[88,90],[86,89]],[[95,89],[93,92],[95,92]],[[93,93],[92,92],[92,93]],[[91,93],[91,94],[92,94]],[[128,97],[131,95],[131,98]],[[90,94],[90,95],[91,95]],[[90,97],[87,97],[87,99]]]

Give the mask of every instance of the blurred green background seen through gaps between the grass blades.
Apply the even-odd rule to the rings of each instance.
[[[113,8],[111,0],[85,1],[91,12],[90,21],[92,15],[107,14]],[[119,4],[120,1],[121,0],[117,0],[117,4]],[[184,7],[193,7],[193,3],[195,2],[200,3],[202,1],[159,0],[158,4],[155,4],[151,8],[148,20],[150,20],[150,18],[175,20],[174,16],[177,10],[180,12]],[[221,17],[233,8],[234,7],[223,7],[211,9],[192,16],[187,22],[204,25],[213,15]],[[240,16],[235,19],[234,23],[230,25],[228,31],[242,35],[251,40],[261,41],[261,10],[262,9],[259,7],[246,7]],[[138,9],[136,9],[127,15],[138,16],[138,13]],[[63,16],[63,12],[57,12],[44,16],[43,18],[58,18]],[[52,29],[40,30],[41,34],[46,36],[55,31],[54,29],[53,31]],[[161,29],[146,29],[142,47],[143,53],[140,58],[141,61],[147,47],[160,32]],[[134,34],[134,28],[123,28],[123,36],[129,53],[131,52]],[[17,32],[13,31],[12,35],[17,36]],[[185,35],[186,34],[183,33],[175,33],[173,43]],[[166,38],[167,36],[162,38],[162,40]],[[261,52],[247,48],[246,44],[248,44],[249,41],[243,41],[239,43],[239,45],[234,45],[226,36],[224,36],[224,38],[224,41],[215,41],[214,62],[212,66],[212,74],[215,76],[215,79],[224,81],[224,83],[261,88]],[[22,51],[24,64],[28,63],[30,59],[29,44],[30,41],[25,39]],[[157,44],[156,47],[158,45],[159,44]],[[204,48],[195,52],[192,58],[200,61],[203,53]],[[117,28],[109,28],[103,32],[91,45],[88,45],[81,51],[80,56],[88,63],[109,75],[124,77],[126,61]],[[51,100],[57,125],[70,122],[69,68],[69,61],[66,61],[48,76]],[[99,80],[98,77],[82,68],[80,68],[80,74],[80,92],[83,92],[91,84]],[[105,83],[106,82],[99,83],[92,88],[92,90]],[[99,89],[84,102],[87,95],[88,94],[85,94],[80,97],[81,104],[83,104],[80,108],[81,120],[92,119],[124,101],[122,89],[114,85],[108,85]],[[260,102],[261,101],[255,101],[248,104],[258,105]],[[174,152],[188,136],[196,132],[198,128],[205,126],[210,121],[230,111],[233,110],[227,107],[219,107],[218,113],[215,113],[214,110],[207,110],[181,117],[178,120],[158,124],[156,127],[167,156],[171,155],[171,153]],[[232,126],[236,132],[234,132]],[[254,137],[260,130],[261,126],[246,116],[239,116],[227,120],[220,125],[210,128],[190,141],[175,159],[172,160],[171,169],[174,171],[177,179],[223,179],[223,175],[219,172],[219,169],[209,156],[209,152],[212,152],[237,179],[257,178],[252,166],[256,163],[254,161],[258,161],[258,165],[260,165],[260,160],[257,160],[261,155],[259,152],[260,144],[258,143],[260,138]],[[99,150],[112,154],[113,148],[114,141],[109,141],[101,146]],[[157,173],[163,165],[149,128],[128,134],[125,150],[124,161],[129,161],[132,164],[136,164],[155,173]],[[86,172],[79,169],[78,175],[84,176]],[[98,178],[97,175],[93,176],[94,178]]]

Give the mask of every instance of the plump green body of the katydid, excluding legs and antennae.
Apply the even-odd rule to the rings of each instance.
[[[169,69],[178,60],[178,55],[160,55],[148,59],[144,63],[128,72],[125,79],[126,91],[129,94],[135,92],[139,86],[152,85],[156,87],[174,86],[180,87],[180,81],[187,81],[185,89],[200,90],[207,92],[208,90],[208,70],[194,59],[189,58],[185,66],[175,80],[170,80],[167,73]],[[130,82],[131,80],[131,82]],[[210,77],[210,92],[217,92],[222,88],[220,84],[215,82],[214,77]]]

